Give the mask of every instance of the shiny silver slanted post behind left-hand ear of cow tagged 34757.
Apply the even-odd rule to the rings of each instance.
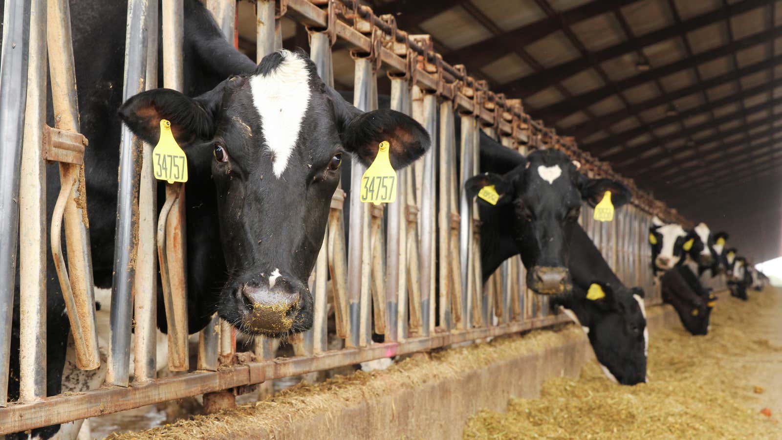
[[[123,101],[144,91],[146,77],[147,9],[143,0],[127,3]],[[135,172],[142,141],[123,126],[120,136],[120,185],[117,189],[117,233],[109,315],[109,370],[106,383],[127,387],[131,345],[132,283],[135,277],[135,232],[138,230],[139,175]]]

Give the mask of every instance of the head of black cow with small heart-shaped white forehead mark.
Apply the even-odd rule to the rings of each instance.
[[[465,182],[472,198],[494,186],[497,204],[479,197],[485,209],[507,212],[511,235],[527,270],[527,286],[538,294],[564,294],[572,288],[568,271],[572,225],[578,222],[581,202],[594,207],[605,193],[614,207],[630,201],[630,189],[610,179],[589,179],[579,163],[557,150],[536,150],[504,175],[483,173]]]

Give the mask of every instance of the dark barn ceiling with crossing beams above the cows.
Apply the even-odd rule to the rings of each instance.
[[[733,244],[752,243],[743,250],[756,259],[782,254],[782,1],[364,3],[400,29],[431,34],[448,63],[521,98],[531,116],[694,222],[724,222],[741,204],[734,214],[755,214],[735,221],[745,230]],[[253,13],[243,15],[240,5],[240,33],[252,41]],[[283,34],[306,47],[294,23]],[[339,46],[334,66],[337,85],[352,84]],[[726,200],[736,187],[766,197]],[[771,229],[774,240],[757,240]]]

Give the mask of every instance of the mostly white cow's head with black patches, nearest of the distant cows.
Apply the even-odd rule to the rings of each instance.
[[[677,223],[665,224],[657,216],[651,219],[649,226],[649,244],[651,261],[655,272],[672,269],[684,261],[685,254],[691,251],[698,239],[695,233],[687,233]]]

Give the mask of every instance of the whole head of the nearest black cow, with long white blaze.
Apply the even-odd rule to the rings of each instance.
[[[271,337],[312,325],[307,279],[343,154],[370,164],[388,141],[398,169],[429,148],[411,117],[362,113],[321,81],[306,54],[287,50],[196,98],[167,89],[140,93],[120,117],[152,144],[160,120],[169,120],[189,166],[211,174],[228,265],[218,311],[239,330]]]

